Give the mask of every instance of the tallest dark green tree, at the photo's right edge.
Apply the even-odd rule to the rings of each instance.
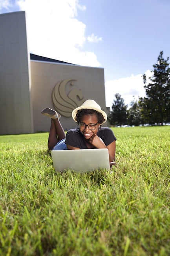
[[[157,63],[153,65],[153,75],[147,82],[143,75],[146,97],[139,99],[141,116],[144,122],[154,124],[170,122],[170,67],[168,59],[160,52]]]

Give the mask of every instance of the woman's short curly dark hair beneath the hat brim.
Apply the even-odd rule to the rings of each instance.
[[[77,111],[75,121],[77,123],[79,123],[82,116],[84,116],[84,115],[93,115],[93,114],[97,115],[97,119],[98,119],[99,124],[102,124],[103,122],[106,121],[105,118],[103,117],[103,115],[100,112],[98,112],[94,109],[86,109],[86,108],[80,109],[80,110]]]

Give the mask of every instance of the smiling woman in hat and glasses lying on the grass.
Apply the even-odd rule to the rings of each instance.
[[[86,100],[75,108],[72,117],[79,128],[70,129],[65,134],[60,124],[60,115],[53,109],[44,108],[42,114],[51,117],[48,138],[49,150],[108,148],[110,166],[115,165],[116,137],[108,127],[101,127],[107,115],[95,100]]]

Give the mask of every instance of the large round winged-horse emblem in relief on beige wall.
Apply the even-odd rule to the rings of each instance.
[[[82,92],[78,89],[72,89],[66,94],[66,85],[72,87],[75,79],[66,79],[58,82],[52,92],[52,101],[55,109],[58,113],[64,117],[71,117],[73,109],[81,106],[85,99],[82,96]]]

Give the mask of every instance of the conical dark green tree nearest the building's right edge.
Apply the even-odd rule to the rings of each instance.
[[[127,123],[127,105],[119,93],[115,94],[116,100],[113,101],[112,111],[108,115],[108,121],[111,125],[124,125]]]

